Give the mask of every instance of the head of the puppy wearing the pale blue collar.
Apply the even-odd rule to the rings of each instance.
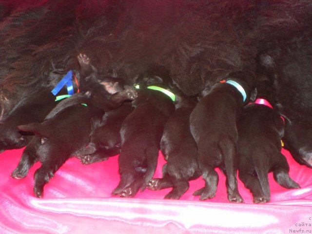
[[[225,80],[234,80],[239,83],[246,92],[245,104],[249,101],[254,101],[257,95],[256,79],[253,74],[243,71],[231,72]]]

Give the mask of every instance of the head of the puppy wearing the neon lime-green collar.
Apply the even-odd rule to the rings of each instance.
[[[140,88],[146,88],[150,85],[157,85],[163,88],[173,88],[173,82],[169,74],[169,70],[164,66],[152,67],[140,74],[136,83]]]

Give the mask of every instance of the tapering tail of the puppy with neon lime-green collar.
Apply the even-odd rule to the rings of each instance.
[[[145,156],[147,160],[147,169],[145,175],[143,176],[141,192],[143,192],[146,189],[147,184],[155,174],[158,160],[158,152],[159,150],[156,147],[147,148],[145,151]]]

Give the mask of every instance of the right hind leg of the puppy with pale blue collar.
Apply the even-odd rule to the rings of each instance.
[[[244,202],[237,187],[236,172],[238,156],[236,145],[234,145],[233,141],[230,139],[223,139],[219,142],[219,147],[221,149],[225,165],[228,200],[231,202]]]

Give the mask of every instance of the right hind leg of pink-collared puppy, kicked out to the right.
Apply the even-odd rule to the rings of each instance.
[[[286,189],[299,189],[300,185],[289,176],[288,162],[281,153],[275,156],[273,176],[275,181]]]

